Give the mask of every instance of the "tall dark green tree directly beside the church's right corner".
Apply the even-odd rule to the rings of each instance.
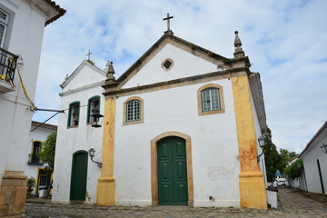
[[[280,154],[278,154],[276,145],[272,143],[272,131],[268,128],[265,136],[264,162],[266,165],[267,181],[272,182],[275,178],[277,165],[280,163]]]

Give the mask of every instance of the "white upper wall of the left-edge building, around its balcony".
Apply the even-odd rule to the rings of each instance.
[[[32,101],[35,97],[35,84],[45,29],[45,16],[36,11],[25,1],[1,1],[0,7],[10,11],[13,18],[12,31],[5,49],[13,54],[21,54],[24,66],[21,74],[25,88]],[[0,93],[0,183],[5,170],[24,172],[25,155],[28,150],[28,139],[32,112],[22,91],[18,74],[15,73],[15,91]],[[9,157],[9,158],[7,158]],[[15,157],[15,158],[12,158]]]

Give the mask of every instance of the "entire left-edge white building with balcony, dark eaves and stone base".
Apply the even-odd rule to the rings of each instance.
[[[1,217],[25,210],[24,171],[43,35],[45,25],[64,12],[50,0],[0,1]]]

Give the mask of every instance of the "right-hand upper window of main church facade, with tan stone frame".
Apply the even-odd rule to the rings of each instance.
[[[223,87],[218,84],[205,84],[197,91],[199,115],[224,113]]]

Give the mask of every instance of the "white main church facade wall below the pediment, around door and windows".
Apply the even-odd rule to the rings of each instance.
[[[225,113],[198,115],[196,91],[204,84],[223,86]],[[144,124],[123,125],[124,101],[129,96],[118,98],[116,103],[116,203],[151,205],[151,140],[176,131],[192,140],[194,205],[239,207],[240,168],[231,81],[186,85],[137,96],[144,99]],[[209,196],[215,202],[210,202]]]

